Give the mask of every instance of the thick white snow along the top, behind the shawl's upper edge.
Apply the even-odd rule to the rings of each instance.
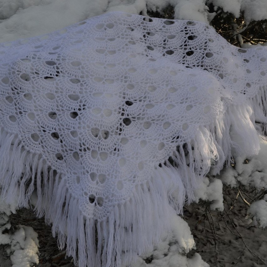
[[[209,0],[245,20],[267,18],[266,0]],[[209,23],[210,13],[205,0],[1,0],[0,42],[50,33],[108,11],[147,14],[174,7],[175,19],[198,20]]]

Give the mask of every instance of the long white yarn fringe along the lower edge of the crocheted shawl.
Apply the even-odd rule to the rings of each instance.
[[[260,95],[261,94],[261,95]],[[2,196],[11,202],[19,189],[19,207],[28,208],[36,190],[34,211],[52,223],[61,249],[74,263],[85,266],[121,266],[151,249],[170,230],[170,218],[182,213],[185,202],[194,200],[193,190],[212,167],[218,173],[236,153],[257,154],[258,133],[254,114],[266,129],[266,94],[250,105],[229,106],[212,126],[201,126],[195,138],[174,151],[170,162],[155,167],[151,178],[136,185],[125,203],[118,203],[104,221],[85,218],[64,177],[41,155],[26,151],[17,135],[3,129],[0,136],[0,184]],[[254,112],[253,112],[253,109]],[[265,124],[264,124],[265,123]],[[211,166],[212,165],[212,166]]]

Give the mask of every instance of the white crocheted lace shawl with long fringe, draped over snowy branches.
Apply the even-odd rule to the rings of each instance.
[[[130,263],[231,148],[258,153],[266,59],[204,23],[118,12],[0,44],[2,194],[27,207],[36,189],[78,266]]]

